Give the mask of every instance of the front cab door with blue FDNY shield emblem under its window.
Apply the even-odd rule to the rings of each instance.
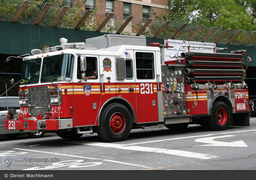
[[[74,77],[74,122],[75,126],[95,125],[100,108],[99,56],[80,55],[77,58]],[[96,79],[85,81],[87,63],[92,62]],[[95,71],[95,72],[94,72]],[[88,74],[88,73],[87,73]]]

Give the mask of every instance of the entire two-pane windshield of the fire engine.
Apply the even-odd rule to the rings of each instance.
[[[24,60],[22,64],[22,76],[20,84],[37,84],[39,76],[41,82],[70,81],[72,78],[74,56],[60,54],[43,58],[40,74],[41,58]]]

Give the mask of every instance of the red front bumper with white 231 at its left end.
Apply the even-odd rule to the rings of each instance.
[[[5,129],[18,130],[46,130],[73,128],[73,119],[46,119],[46,120],[5,120]]]

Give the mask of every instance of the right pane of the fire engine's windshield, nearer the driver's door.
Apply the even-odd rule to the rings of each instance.
[[[71,54],[60,54],[43,58],[41,82],[70,81],[72,78],[74,56]]]

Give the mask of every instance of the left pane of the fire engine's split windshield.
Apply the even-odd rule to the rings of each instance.
[[[33,84],[39,82],[41,58],[24,60],[20,84]]]

